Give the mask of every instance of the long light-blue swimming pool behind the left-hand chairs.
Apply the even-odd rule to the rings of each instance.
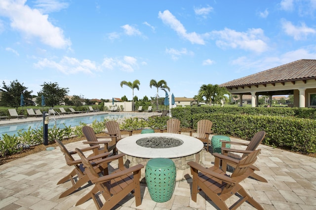
[[[124,113],[124,114],[99,114],[99,115],[86,115],[86,116],[74,116],[69,118],[55,118],[56,126],[58,128],[65,128],[65,126],[75,127],[80,124],[80,122],[84,122],[87,124],[91,124],[94,120],[103,121],[104,119],[110,120],[119,120],[124,118],[137,117],[139,114],[137,113]],[[48,128],[51,128],[55,125],[55,120],[51,118],[48,123]],[[32,121],[32,122],[22,122],[22,123],[12,123],[12,124],[4,124],[0,125],[0,137],[2,138],[3,134],[8,134],[13,136],[18,133],[18,130],[27,131],[29,127],[31,129],[38,129],[43,126],[43,121]]]

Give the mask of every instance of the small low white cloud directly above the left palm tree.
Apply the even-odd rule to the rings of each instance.
[[[125,72],[133,72],[138,67],[137,59],[130,56],[124,56],[123,59],[104,58],[102,66],[114,70],[116,67]]]

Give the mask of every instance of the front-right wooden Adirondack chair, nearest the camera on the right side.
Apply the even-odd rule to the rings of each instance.
[[[194,161],[188,162],[191,166],[193,183],[191,198],[197,202],[198,189],[202,190],[221,210],[235,210],[243,202],[247,201],[258,210],[263,210],[261,205],[256,202],[239,184],[242,180],[253,174],[254,170],[250,167],[256,160],[260,150],[255,150],[243,157],[241,160],[230,158],[223,154],[213,153],[215,156],[214,166],[204,168]],[[236,164],[236,169],[231,176],[220,169],[220,162]],[[228,207],[225,201],[237,193],[238,200],[231,207]],[[242,197],[242,198],[240,198]]]

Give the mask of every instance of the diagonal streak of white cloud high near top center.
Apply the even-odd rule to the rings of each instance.
[[[201,35],[196,32],[188,33],[180,21],[178,21],[169,10],[164,10],[162,13],[159,11],[158,17],[165,25],[168,25],[172,30],[175,30],[179,36],[189,40],[192,44],[205,44]]]

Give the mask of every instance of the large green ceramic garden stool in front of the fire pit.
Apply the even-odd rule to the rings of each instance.
[[[145,179],[153,201],[169,201],[176,184],[176,167],[173,161],[168,158],[150,159],[146,165]]]

